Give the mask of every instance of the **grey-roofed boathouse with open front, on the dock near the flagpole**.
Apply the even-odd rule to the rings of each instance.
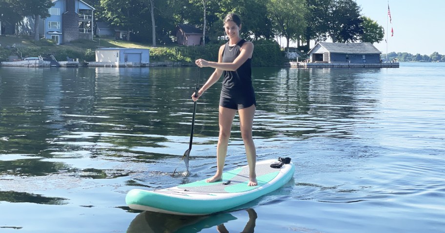
[[[381,63],[382,54],[369,42],[328,43],[319,42],[309,52],[312,63]]]

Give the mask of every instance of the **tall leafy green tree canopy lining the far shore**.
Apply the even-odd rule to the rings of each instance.
[[[355,0],[85,0],[96,8],[95,21],[128,30],[128,40],[174,43],[178,24],[199,27],[205,41],[224,36],[222,18],[231,12],[243,18],[242,36],[252,41],[286,38],[305,51],[310,40],[380,42],[384,29],[361,15]],[[48,17],[51,0],[0,0],[0,20]],[[39,7],[37,7],[39,6]],[[36,39],[39,39],[38,36]],[[219,42],[218,42],[219,43]]]

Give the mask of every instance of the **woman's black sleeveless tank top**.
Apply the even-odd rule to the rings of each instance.
[[[246,40],[241,39],[235,46],[229,46],[229,42],[225,44],[223,51],[223,62],[233,62],[241,53],[241,46]],[[223,89],[221,95],[223,97],[231,97],[234,93],[243,91],[245,93],[254,93],[252,86],[252,68],[251,58],[248,58],[243,65],[236,71],[223,72]]]

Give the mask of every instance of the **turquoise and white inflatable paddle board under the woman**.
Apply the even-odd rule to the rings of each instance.
[[[289,158],[256,162],[257,186],[248,186],[247,165],[223,173],[223,180],[200,180],[158,190],[130,190],[127,205],[136,210],[174,215],[209,215],[245,204],[270,193],[292,179],[295,167]]]

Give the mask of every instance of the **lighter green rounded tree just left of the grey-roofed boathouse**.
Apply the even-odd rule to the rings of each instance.
[[[290,40],[303,35],[307,13],[305,0],[270,0],[267,11],[272,21],[272,30],[277,36],[286,38],[286,47],[289,47]]]

